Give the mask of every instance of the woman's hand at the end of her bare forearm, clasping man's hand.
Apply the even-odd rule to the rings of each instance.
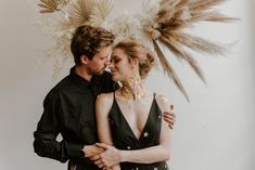
[[[118,149],[104,143],[97,143],[95,145],[104,149],[102,154],[99,154],[90,159],[94,161],[99,168],[111,168],[120,162],[122,158]]]

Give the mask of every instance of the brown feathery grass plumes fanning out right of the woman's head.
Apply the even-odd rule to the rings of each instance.
[[[196,52],[214,55],[224,54],[227,50],[203,38],[190,36],[183,31],[183,28],[191,27],[199,22],[230,23],[237,21],[234,17],[228,17],[215,11],[214,8],[225,1],[226,0],[162,0],[160,2],[160,10],[154,18],[154,25],[146,25],[144,27],[146,36],[154,40],[154,51],[156,51],[162,67],[166,70],[167,75],[174,79],[186,97],[187,93],[183,87],[181,86],[180,88],[179,86],[181,83],[175,80],[176,74],[155,40],[158,40],[158,42],[165,45],[177,58],[186,61],[196,75],[206,82],[197,62],[191,54],[186,52],[183,48],[186,47]],[[155,32],[157,32],[156,37]]]

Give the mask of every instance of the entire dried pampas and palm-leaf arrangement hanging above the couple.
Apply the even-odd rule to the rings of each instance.
[[[38,5],[43,9],[40,11],[41,13],[62,11],[64,14],[62,15],[63,19],[58,19],[59,23],[55,27],[61,34],[56,34],[55,37],[58,49],[64,51],[63,60],[66,60],[69,54],[67,42],[71,39],[71,32],[76,27],[84,24],[103,26],[116,34],[117,41],[128,37],[143,40],[144,44],[156,54],[156,61],[162,65],[167,76],[174,80],[189,101],[183,86],[161,50],[161,45],[166,47],[177,58],[187,62],[205,82],[205,77],[197,62],[186,50],[220,55],[226,53],[226,49],[206,39],[186,34],[184,28],[200,22],[230,23],[237,21],[238,18],[226,16],[215,10],[215,6],[225,1],[160,0],[158,2],[158,0],[148,0],[145,3],[148,6],[143,6],[145,9],[135,14],[115,15],[115,18],[109,18],[113,9],[113,0],[72,0],[69,2],[68,0],[40,0],[41,3]],[[62,47],[61,43],[63,43]]]

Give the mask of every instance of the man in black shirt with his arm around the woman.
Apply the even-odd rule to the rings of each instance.
[[[112,92],[114,81],[105,71],[114,35],[103,28],[80,26],[71,43],[75,66],[46,96],[43,113],[34,132],[35,152],[42,157],[68,161],[68,170],[97,170],[89,157],[104,152],[98,142],[94,101]],[[166,116],[174,125],[173,113]],[[56,141],[61,133],[63,140]]]

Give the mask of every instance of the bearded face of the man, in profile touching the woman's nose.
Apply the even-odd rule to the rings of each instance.
[[[112,53],[112,45],[103,47],[99,49],[99,52],[88,60],[88,71],[90,75],[102,75],[106,66],[110,64],[110,57]]]

